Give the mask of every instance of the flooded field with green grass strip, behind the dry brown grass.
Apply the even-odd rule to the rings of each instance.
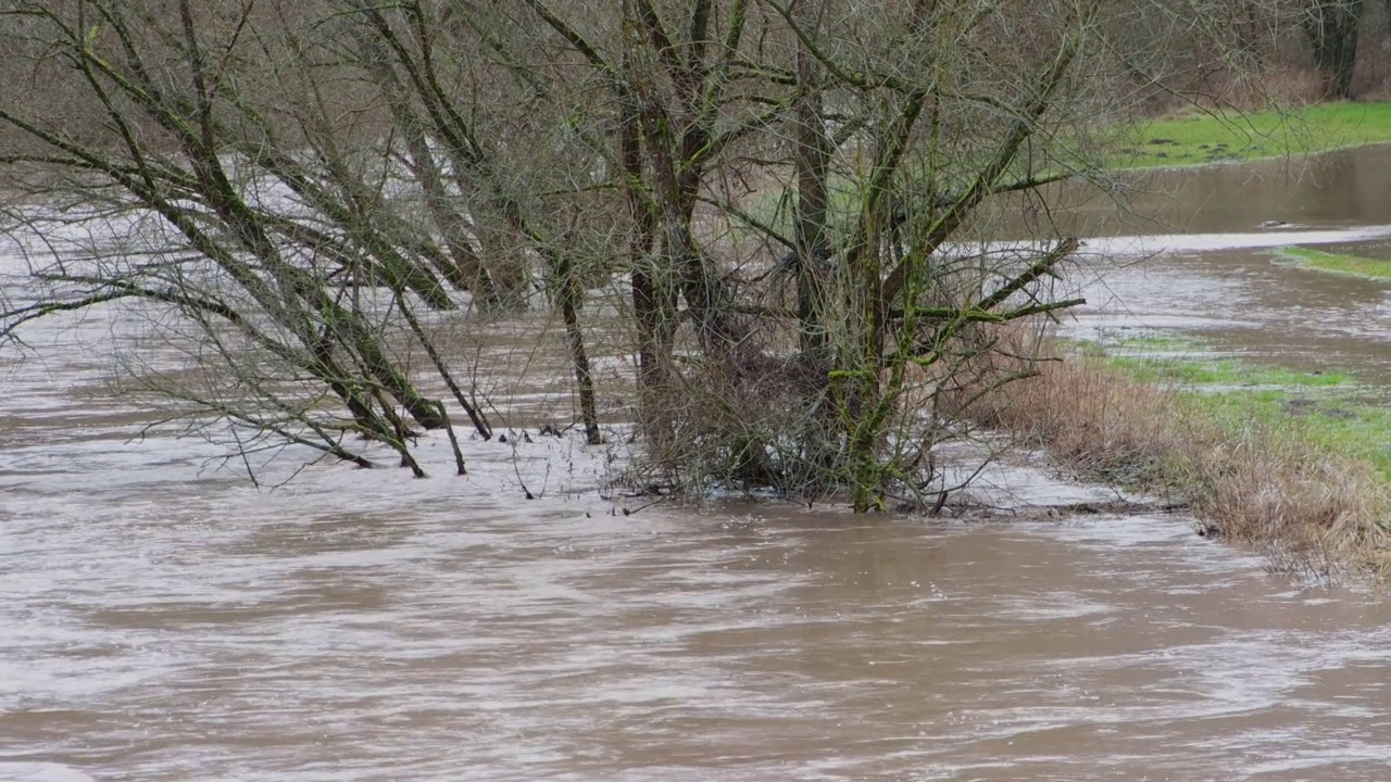
[[[1174,220],[1166,223],[1173,241],[1148,239],[1153,255],[1142,263],[1097,253],[1077,270],[1091,303],[1064,334],[1121,346],[1120,369],[1195,391],[1192,402],[1224,424],[1302,433],[1391,476],[1391,280],[1291,263],[1388,257],[1391,147],[1189,174],[1159,210]],[[1192,220],[1181,218],[1187,210]],[[1121,234],[1129,227],[1095,203],[1070,220]],[[1223,220],[1231,232],[1214,232]],[[1260,220],[1285,224],[1252,231]]]

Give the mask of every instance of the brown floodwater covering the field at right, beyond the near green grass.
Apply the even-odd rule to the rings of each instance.
[[[1391,281],[1340,277],[1274,263],[1301,245],[1391,257],[1391,147],[1366,147],[1312,163],[1267,161],[1168,171],[1146,181],[1132,212],[1099,198],[1066,227],[1109,231],[1093,239],[1089,306],[1070,334],[1174,330],[1219,349],[1301,369],[1338,367],[1391,390]],[[1284,223],[1263,228],[1262,223]]]

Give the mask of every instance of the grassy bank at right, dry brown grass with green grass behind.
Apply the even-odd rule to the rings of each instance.
[[[1342,374],[1064,345],[988,422],[1289,569],[1391,575],[1391,413]]]

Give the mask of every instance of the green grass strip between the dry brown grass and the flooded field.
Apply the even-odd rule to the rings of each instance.
[[[1205,355],[1202,344],[1170,337],[1135,337],[1074,342],[1084,355],[1136,383],[1178,394],[1193,416],[1237,434],[1251,427],[1280,431],[1324,452],[1373,465],[1391,480],[1391,408],[1367,401],[1367,392],[1341,372],[1287,367]],[[1143,345],[1187,355],[1145,355]]]

